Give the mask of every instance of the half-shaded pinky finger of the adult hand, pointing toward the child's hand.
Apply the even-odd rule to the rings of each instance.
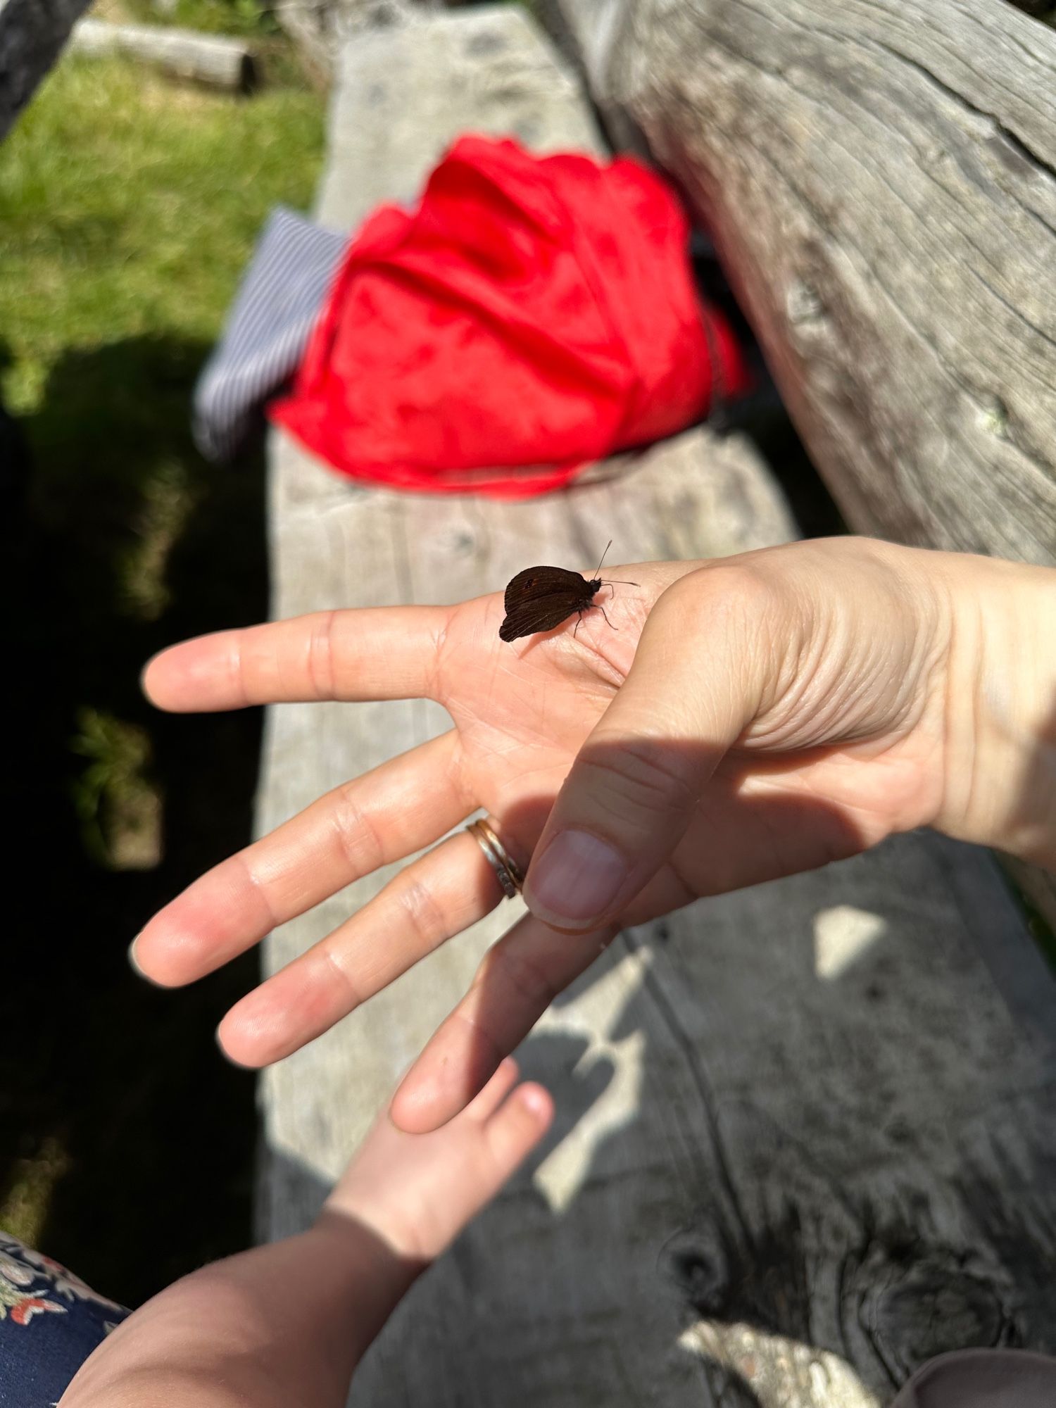
[[[618,934],[559,934],[531,915],[493,945],[473,986],[436,1029],[393,1097],[393,1124],[428,1133],[484,1088],[553,998],[587,969]]]

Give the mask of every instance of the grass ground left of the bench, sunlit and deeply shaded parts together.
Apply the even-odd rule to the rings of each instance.
[[[255,960],[159,993],[124,953],[248,839],[259,718],[158,715],[138,673],[268,608],[260,455],[203,463],[190,393],[268,211],[311,201],[322,107],[68,58],[0,148],[0,387],[30,459],[0,479],[0,1224],[128,1301],[249,1238],[253,1083],[211,1033]]]

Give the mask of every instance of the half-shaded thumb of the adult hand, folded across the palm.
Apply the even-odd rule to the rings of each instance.
[[[743,567],[687,573],[649,612],[634,665],[580,749],[524,884],[559,929],[618,917],[681,841],[759,708],[773,593]]]

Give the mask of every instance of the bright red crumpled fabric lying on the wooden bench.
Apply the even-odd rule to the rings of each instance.
[[[414,214],[383,206],[351,244],[270,415],[353,479],[558,489],[693,424],[714,386],[745,389],[687,238],[674,193],[634,161],[462,138]]]

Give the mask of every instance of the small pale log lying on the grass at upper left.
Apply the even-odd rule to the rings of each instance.
[[[158,24],[110,24],[80,20],[70,37],[76,54],[122,54],[173,77],[245,93],[253,86],[253,55],[241,39]]]

